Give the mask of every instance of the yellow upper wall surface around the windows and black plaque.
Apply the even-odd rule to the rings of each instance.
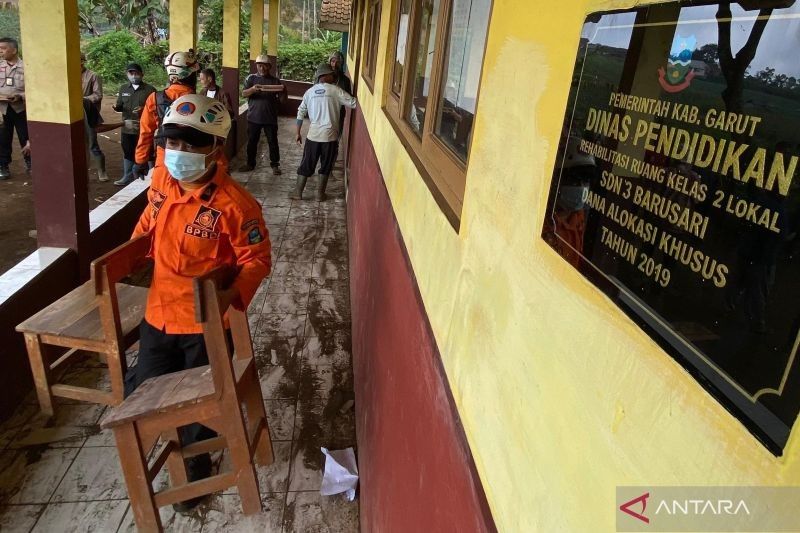
[[[359,82],[501,531],[613,531],[622,484],[800,483],[797,427],[775,458],[539,236],[584,16],[632,5],[494,0],[458,234]]]

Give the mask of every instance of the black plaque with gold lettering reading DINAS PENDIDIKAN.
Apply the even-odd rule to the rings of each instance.
[[[588,17],[543,229],[777,455],[800,411],[794,4]]]

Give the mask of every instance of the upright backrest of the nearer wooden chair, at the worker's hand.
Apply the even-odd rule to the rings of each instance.
[[[247,313],[242,310],[239,291],[232,286],[235,275],[235,269],[223,266],[194,278],[195,320],[203,326],[208,362],[214,380],[214,395],[217,398],[236,394],[231,350],[237,359],[253,357]],[[225,331],[226,316],[233,346],[229,345]]]

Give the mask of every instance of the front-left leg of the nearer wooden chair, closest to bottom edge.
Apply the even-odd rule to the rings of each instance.
[[[161,533],[161,517],[153,499],[153,487],[147,479],[147,458],[144,456],[135,423],[114,428],[119,461],[128,487],[133,519],[140,532]]]

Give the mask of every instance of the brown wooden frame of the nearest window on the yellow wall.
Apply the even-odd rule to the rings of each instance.
[[[390,23],[390,42],[387,47],[387,72],[386,86],[389,90],[385,91],[383,110],[389,119],[395,133],[400,138],[406,151],[417,167],[417,170],[425,180],[426,185],[431,191],[436,203],[442,209],[450,224],[456,231],[460,227],[461,210],[464,205],[464,192],[466,190],[466,174],[469,167],[469,160],[472,156],[472,141],[470,138],[467,149],[467,159],[462,161],[435,133],[436,118],[438,117],[439,106],[442,95],[442,77],[445,75],[447,54],[449,53],[449,32],[452,17],[452,7],[454,0],[440,0],[439,13],[437,15],[436,36],[434,39],[433,63],[431,65],[431,78],[429,84],[429,94],[425,108],[425,122],[420,138],[408,121],[404,120],[406,110],[410,108],[413,89],[413,77],[416,75],[416,63],[414,55],[416,49],[412,43],[416,43],[421,24],[416,23],[417,11],[422,6],[422,0],[412,0],[411,12],[409,13],[409,25],[406,36],[406,56],[401,83],[401,94],[393,92],[392,81],[394,79],[397,38],[400,25],[400,7],[402,0],[395,0],[392,5]],[[490,8],[488,26],[491,21]],[[486,41],[484,42],[484,58],[486,56]],[[481,62],[483,63],[483,62]],[[483,75],[483,64],[481,73]],[[476,99],[476,109],[480,101],[480,87]],[[477,114],[477,113],[476,113]]]

